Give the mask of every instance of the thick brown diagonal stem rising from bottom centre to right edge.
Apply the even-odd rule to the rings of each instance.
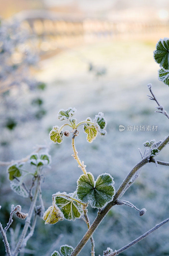
[[[161,150],[162,148],[164,148],[167,144],[169,143],[169,135],[160,143],[160,145],[158,146],[158,149]],[[88,242],[88,240],[90,239],[90,237],[93,235],[93,233],[95,232],[96,228],[99,226],[100,222],[103,220],[103,218],[106,216],[106,214],[109,212],[109,210],[112,208],[112,206],[116,205],[116,200],[120,197],[121,193],[123,193],[123,190],[126,188],[127,184],[129,183],[129,181],[131,180],[131,178],[135,175],[135,173],[141,168],[143,167],[145,164],[147,164],[149,162],[149,157],[150,156],[146,156],[144,157],[139,163],[137,163],[133,169],[129,172],[129,174],[127,175],[127,177],[124,179],[123,183],[121,184],[121,186],[118,188],[113,201],[109,202],[108,204],[106,204],[106,206],[102,209],[102,211],[97,213],[97,216],[95,218],[95,220],[93,221],[92,225],[90,226],[90,228],[88,229],[88,231],[86,232],[86,234],[83,236],[83,238],[81,239],[81,241],[79,242],[79,244],[76,246],[76,248],[74,249],[74,251],[71,253],[71,256],[76,256],[79,254],[79,252],[82,250],[82,248],[85,246],[85,244]]]

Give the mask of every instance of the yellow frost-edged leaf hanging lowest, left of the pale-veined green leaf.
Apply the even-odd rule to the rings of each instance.
[[[43,215],[43,220],[45,220],[45,224],[55,224],[59,220],[63,220],[64,215],[60,211],[59,207],[55,207],[51,205]]]

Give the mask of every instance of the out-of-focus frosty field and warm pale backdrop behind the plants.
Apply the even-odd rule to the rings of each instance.
[[[146,140],[168,134],[165,116],[154,113],[148,100],[148,83],[159,102],[169,111],[169,89],[158,81],[158,64],[153,50],[159,38],[168,37],[167,0],[0,0],[0,160],[11,161],[29,155],[37,144],[50,147],[51,169],[45,171],[42,196],[45,208],[57,191],[73,192],[81,175],[74,161],[71,138],[60,145],[49,141],[60,108],[75,107],[76,118],[92,119],[102,111],[108,134],[92,144],[84,132],[76,139],[79,157],[95,178],[104,172],[115,180],[115,188],[140,160],[137,150]],[[126,129],[119,132],[119,125]],[[157,131],[128,131],[127,126],[158,126]],[[165,148],[158,156],[168,161]],[[115,206],[94,234],[95,255],[107,247],[119,249],[168,218],[169,170],[147,164],[140,177],[123,196],[147,213]],[[24,212],[29,198],[11,191],[6,166],[0,166],[0,220],[9,219],[11,204]],[[91,222],[97,210],[88,207]],[[16,220],[12,227],[22,227]],[[17,228],[18,228],[17,227]],[[24,255],[50,256],[60,234],[61,244],[75,247],[87,229],[83,220],[44,225],[38,220]],[[145,240],[121,253],[125,256],[169,255],[169,227],[166,225]],[[9,239],[10,236],[8,235]],[[81,251],[89,255],[90,242]],[[0,239],[0,255],[5,255]]]

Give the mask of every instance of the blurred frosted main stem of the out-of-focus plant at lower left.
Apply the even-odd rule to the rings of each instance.
[[[37,201],[37,198],[38,198],[39,186],[40,186],[40,176],[38,176],[36,178],[37,178],[37,186],[36,186],[34,198],[32,200],[32,203],[31,203],[31,206],[30,206],[30,209],[29,209],[29,212],[28,212],[28,217],[26,218],[22,234],[21,234],[21,236],[19,238],[18,244],[17,244],[17,246],[15,248],[15,251],[14,251],[12,256],[17,256],[19,251],[21,250],[23,242],[24,242],[24,239],[25,239],[25,236],[26,236],[26,233],[28,231],[28,228],[29,228],[29,225],[30,225],[30,222],[31,222],[31,219],[32,219],[32,214],[33,214],[33,210],[35,208],[36,201]]]

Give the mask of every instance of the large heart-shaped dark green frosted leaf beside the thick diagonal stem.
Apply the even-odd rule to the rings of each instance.
[[[84,203],[90,203],[93,208],[102,208],[113,199],[115,188],[110,174],[104,173],[95,182],[92,173],[82,174],[77,180],[77,196]]]

